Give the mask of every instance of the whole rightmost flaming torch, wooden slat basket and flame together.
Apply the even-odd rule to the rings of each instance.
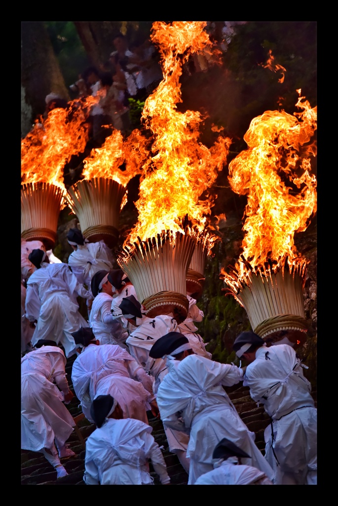
[[[299,95],[301,90],[298,90]],[[243,252],[227,288],[244,307],[252,329],[265,341],[288,330],[293,344],[306,340],[303,289],[308,261],[297,252],[295,232],[303,232],[316,212],[316,178],[311,158],[317,108],[299,97],[294,115],[266,111],[244,136],[248,145],[229,164],[232,189],[248,196]]]

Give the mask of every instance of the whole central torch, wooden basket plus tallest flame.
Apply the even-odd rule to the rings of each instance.
[[[220,136],[208,149],[198,142],[200,113],[177,111],[183,63],[194,52],[212,54],[205,25],[153,23],[151,39],[159,47],[163,80],[142,113],[154,136],[153,155],[144,165],[135,204],[138,223],[116,252],[117,263],[134,284],[148,316],[173,313],[178,323],[188,313],[186,274],[196,243],[208,237],[206,216],[212,197],[200,196],[222,170],[230,145]]]

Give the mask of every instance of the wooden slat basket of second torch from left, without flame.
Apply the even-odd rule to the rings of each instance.
[[[82,180],[68,188],[66,199],[86,239],[116,246],[119,213],[126,202],[124,186],[112,179]]]

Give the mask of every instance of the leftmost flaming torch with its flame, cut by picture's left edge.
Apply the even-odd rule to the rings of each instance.
[[[65,206],[63,167],[85,149],[89,137],[86,118],[96,98],[69,103],[37,120],[21,142],[21,237],[55,246],[60,210]]]

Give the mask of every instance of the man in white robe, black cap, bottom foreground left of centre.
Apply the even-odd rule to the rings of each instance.
[[[86,442],[86,485],[153,485],[149,460],[161,484],[170,484],[163,455],[149,425],[123,418],[111,395],[100,395],[93,401],[91,416],[97,429]]]

